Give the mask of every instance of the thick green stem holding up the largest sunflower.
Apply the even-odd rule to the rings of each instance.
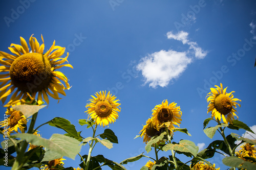
[[[37,117],[38,112],[36,112],[35,114],[33,114],[32,119],[31,119],[31,123],[29,125],[29,130],[28,133],[33,133],[34,130],[34,126],[35,126],[35,121],[36,121],[36,117]],[[20,168],[22,168],[22,166],[26,163],[23,158],[24,158],[24,154],[28,148],[28,142],[25,140],[23,145],[22,145],[22,149],[20,149],[20,152],[18,153],[13,166],[12,166],[12,170],[18,170]]]

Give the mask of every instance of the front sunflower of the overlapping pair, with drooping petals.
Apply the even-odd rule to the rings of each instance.
[[[160,126],[164,123],[169,123],[168,129],[172,131],[174,125],[180,127],[181,115],[180,106],[176,106],[177,103],[173,102],[168,105],[167,100],[163,100],[161,105],[155,106],[152,110],[152,122],[156,129],[160,129]]]

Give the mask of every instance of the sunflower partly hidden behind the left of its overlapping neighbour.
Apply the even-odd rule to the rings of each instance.
[[[159,135],[160,131],[155,128],[152,122],[152,118],[146,120],[146,125],[140,131],[140,137],[143,137],[143,142],[147,143],[150,139],[156,135]]]

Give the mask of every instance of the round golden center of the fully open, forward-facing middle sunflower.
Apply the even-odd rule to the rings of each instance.
[[[106,117],[112,113],[112,106],[108,101],[102,100],[96,103],[94,110],[98,116]]]

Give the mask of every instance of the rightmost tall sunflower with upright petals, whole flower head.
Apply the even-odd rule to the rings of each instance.
[[[217,86],[215,85],[216,88],[210,88],[211,92],[209,92],[206,96],[208,104],[208,111],[207,113],[211,112],[211,118],[214,118],[216,120],[221,121],[221,118],[223,119],[223,122],[225,124],[232,124],[232,120],[234,119],[234,116],[237,116],[236,108],[238,105],[241,107],[240,104],[238,104],[236,101],[240,101],[239,99],[233,98],[233,94],[231,91],[230,93],[227,93],[227,87],[223,89],[223,86]],[[238,116],[237,116],[238,118]]]

